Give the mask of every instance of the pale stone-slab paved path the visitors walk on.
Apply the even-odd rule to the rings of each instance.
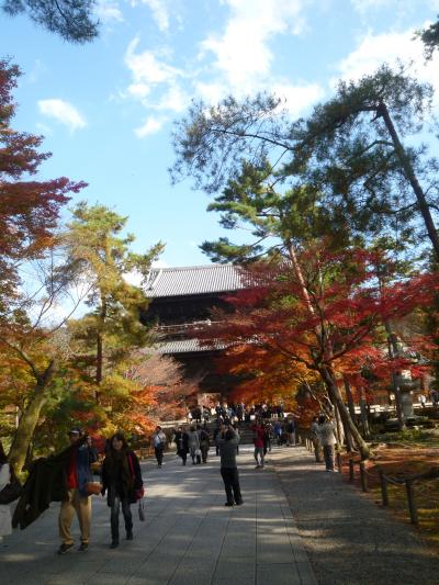
[[[212,452],[212,449],[211,449]],[[146,521],[135,540],[109,549],[109,509],[93,497],[92,543],[55,554],[54,504],[0,547],[0,583],[20,585],[316,585],[295,521],[273,469],[239,455],[244,506],[225,508],[218,459],[183,468],[169,455],[161,470],[144,465]],[[122,519],[121,519],[122,521]],[[76,520],[72,533],[78,535]]]

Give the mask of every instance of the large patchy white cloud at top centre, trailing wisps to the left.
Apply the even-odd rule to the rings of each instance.
[[[138,137],[158,132],[172,114],[184,111],[192,98],[217,103],[230,93],[240,99],[268,90],[284,98],[286,109],[297,115],[323,97],[317,83],[285,82],[274,75],[269,46],[275,35],[304,31],[303,9],[312,0],[222,1],[229,9],[228,20],[221,33],[200,44],[195,65],[176,67],[170,50],[142,50],[137,36],[130,43],[125,64],[132,81],[122,97],[138,100],[149,113],[135,130]],[[162,117],[154,112],[162,112]]]

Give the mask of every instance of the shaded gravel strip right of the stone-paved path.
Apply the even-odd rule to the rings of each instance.
[[[274,465],[319,585],[439,584],[439,552],[303,447]]]

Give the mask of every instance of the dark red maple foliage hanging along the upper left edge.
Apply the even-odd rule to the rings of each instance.
[[[69,193],[86,183],[65,177],[30,180],[50,154],[37,149],[43,138],[11,127],[12,91],[20,70],[0,60],[0,318],[16,299],[19,267],[50,246],[59,212]]]

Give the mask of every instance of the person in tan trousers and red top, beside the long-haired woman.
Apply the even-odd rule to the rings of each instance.
[[[68,462],[67,494],[68,498],[61,502],[59,510],[59,537],[61,545],[58,554],[65,554],[75,543],[70,535],[71,521],[75,514],[78,517],[81,531],[80,551],[87,551],[90,541],[91,499],[85,491],[86,483],[92,481],[90,471],[90,454],[87,443],[79,442],[80,429],[74,428],[69,432],[69,439],[74,449]]]

